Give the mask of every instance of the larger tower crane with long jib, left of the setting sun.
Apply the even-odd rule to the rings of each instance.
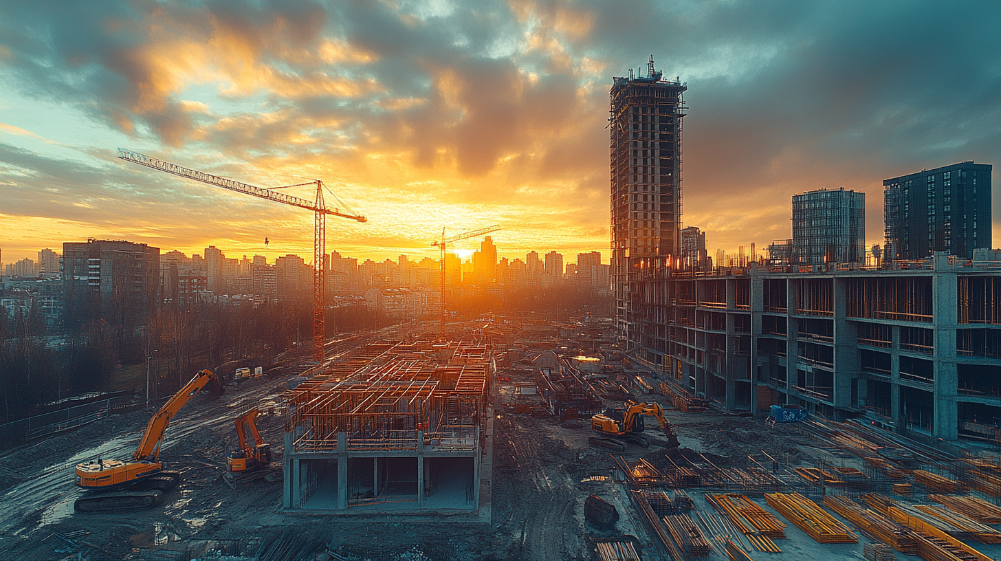
[[[264,188],[248,185],[247,183],[241,183],[240,181],[234,181],[225,177],[219,177],[218,175],[212,175],[210,173],[205,173],[204,171],[190,169],[175,163],[154,158],[152,156],[147,156],[146,154],[126,150],[124,148],[118,148],[118,157],[125,161],[131,161],[133,163],[138,163],[139,165],[145,165],[146,167],[152,167],[153,169],[173,173],[174,175],[179,175],[187,179],[194,179],[195,181],[201,181],[217,187],[313,211],[313,360],[316,361],[317,364],[321,363],[323,361],[323,340],[325,339],[323,333],[323,309],[325,306],[324,292],[326,287],[324,284],[323,256],[326,254],[326,215],[330,214],[332,216],[348,218],[358,222],[366,222],[368,221],[367,218],[357,214],[341,212],[338,208],[327,208],[326,203],[323,201],[323,189],[325,188],[325,185],[323,185],[323,181],[320,181],[319,179],[306,181],[304,183],[296,183],[294,185]],[[304,198],[299,198],[297,196],[292,196],[274,190],[288,187],[301,187],[304,185],[316,185],[315,201],[310,202]],[[336,195],[334,195],[334,198],[336,198]],[[353,212],[350,209],[348,209],[348,211]]]

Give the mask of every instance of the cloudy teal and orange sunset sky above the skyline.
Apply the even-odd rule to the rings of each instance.
[[[882,243],[883,179],[1001,163],[998,29],[995,1],[2,2],[0,258],[87,237],[240,256],[267,237],[269,258],[311,259],[308,210],[125,147],[260,186],[321,179],[368,218],[328,219],[345,255],[435,256],[442,227],[498,224],[503,256],[607,259],[609,88],[651,54],[688,83],[683,219],[710,254],[789,237],[791,196],[821,187],[866,192]],[[993,207],[998,247],[996,186]]]

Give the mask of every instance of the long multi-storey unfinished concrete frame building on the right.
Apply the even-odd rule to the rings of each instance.
[[[669,378],[698,397],[995,438],[1001,261],[939,253],[873,270],[752,265],[677,271],[663,286]]]

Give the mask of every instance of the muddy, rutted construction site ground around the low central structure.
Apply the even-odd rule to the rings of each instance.
[[[73,466],[80,461],[128,457],[151,410],[112,416],[0,454],[0,558],[186,560],[214,550],[260,559],[597,559],[593,540],[612,537],[633,540],[644,559],[667,558],[631,504],[628,485],[616,481],[610,452],[589,443],[594,433],[588,422],[560,422],[544,415],[542,400],[516,396],[514,382],[499,382],[493,392],[492,474],[483,475],[491,479],[488,523],[468,517],[286,513],[280,481],[230,489],[219,476],[226,453],[236,445],[233,419],[250,407],[265,412],[258,427],[275,445],[275,460],[280,461],[284,418],[278,394],[283,382],[252,380],[227,387],[217,402],[198,396],[188,404],[171,423],[160,456],[166,469],[182,471],[182,484],[153,509],[78,514],[73,500],[79,491],[72,482]],[[662,396],[642,399],[667,406]],[[510,413],[505,405],[516,402],[530,405],[531,412]],[[680,413],[668,408],[667,417],[676,427],[680,450],[665,449],[660,432],[648,429],[654,441],[650,448],[630,446],[614,453],[616,458],[653,462],[671,455],[683,462],[701,455],[726,470],[747,467],[753,463],[749,456],[760,459],[766,451],[781,461],[787,478],[798,466],[865,468],[857,457],[797,424],[772,427],[761,419],[714,410]],[[819,487],[790,483],[820,501]],[[712,513],[705,492],[689,490],[697,510]],[[586,521],[584,503],[591,494],[616,506],[621,519],[615,528],[600,530]],[[778,515],[761,493],[749,496]],[[911,500],[919,499],[923,497]],[[787,539],[776,540],[782,553],[752,552],[754,559],[861,559],[863,545],[871,541],[856,531],[857,544],[820,544],[779,519],[787,523]],[[971,545],[1001,558],[999,545]],[[725,557],[714,553],[709,559]]]

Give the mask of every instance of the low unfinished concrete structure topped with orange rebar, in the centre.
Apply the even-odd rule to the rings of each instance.
[[[371,344],[297,387],[285,423],[285,509],[476,512],[491,352]]]

